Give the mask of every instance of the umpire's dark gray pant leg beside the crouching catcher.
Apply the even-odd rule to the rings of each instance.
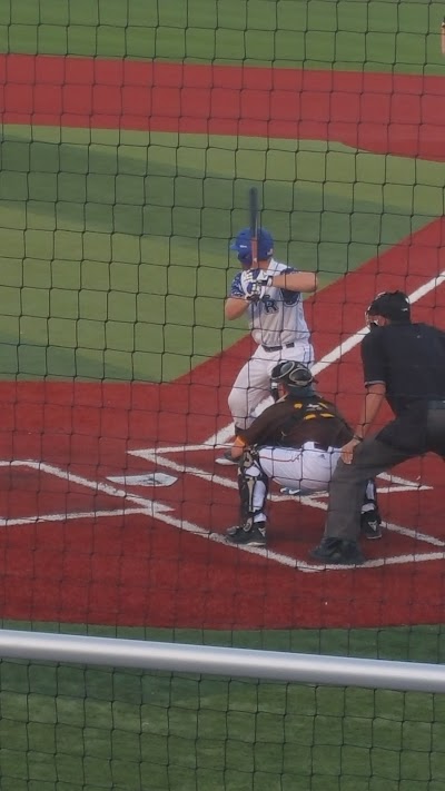
[[[356,541],[368,479],[416,455],[369,437],[356,446],[350,464],[339,459],[329,486],[325,537]]]

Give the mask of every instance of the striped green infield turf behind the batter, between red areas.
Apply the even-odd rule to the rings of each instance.
[[[2,376],[168,380],[245,332],[222,303],[248,186],[326,285],[443,214],[445,165],[320,141],[6,127]]]

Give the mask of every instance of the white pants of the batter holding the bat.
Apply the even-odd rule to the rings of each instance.
[[[238,428],[248,428],[254,421],[256,407],[270,396],[270,374],[283,359],[294,359],[310,367],[314,365],[313,346],[295,344],[277,352],[265,352],[263,346],[258,346],[236,377],[228,397],[229,409]]]

